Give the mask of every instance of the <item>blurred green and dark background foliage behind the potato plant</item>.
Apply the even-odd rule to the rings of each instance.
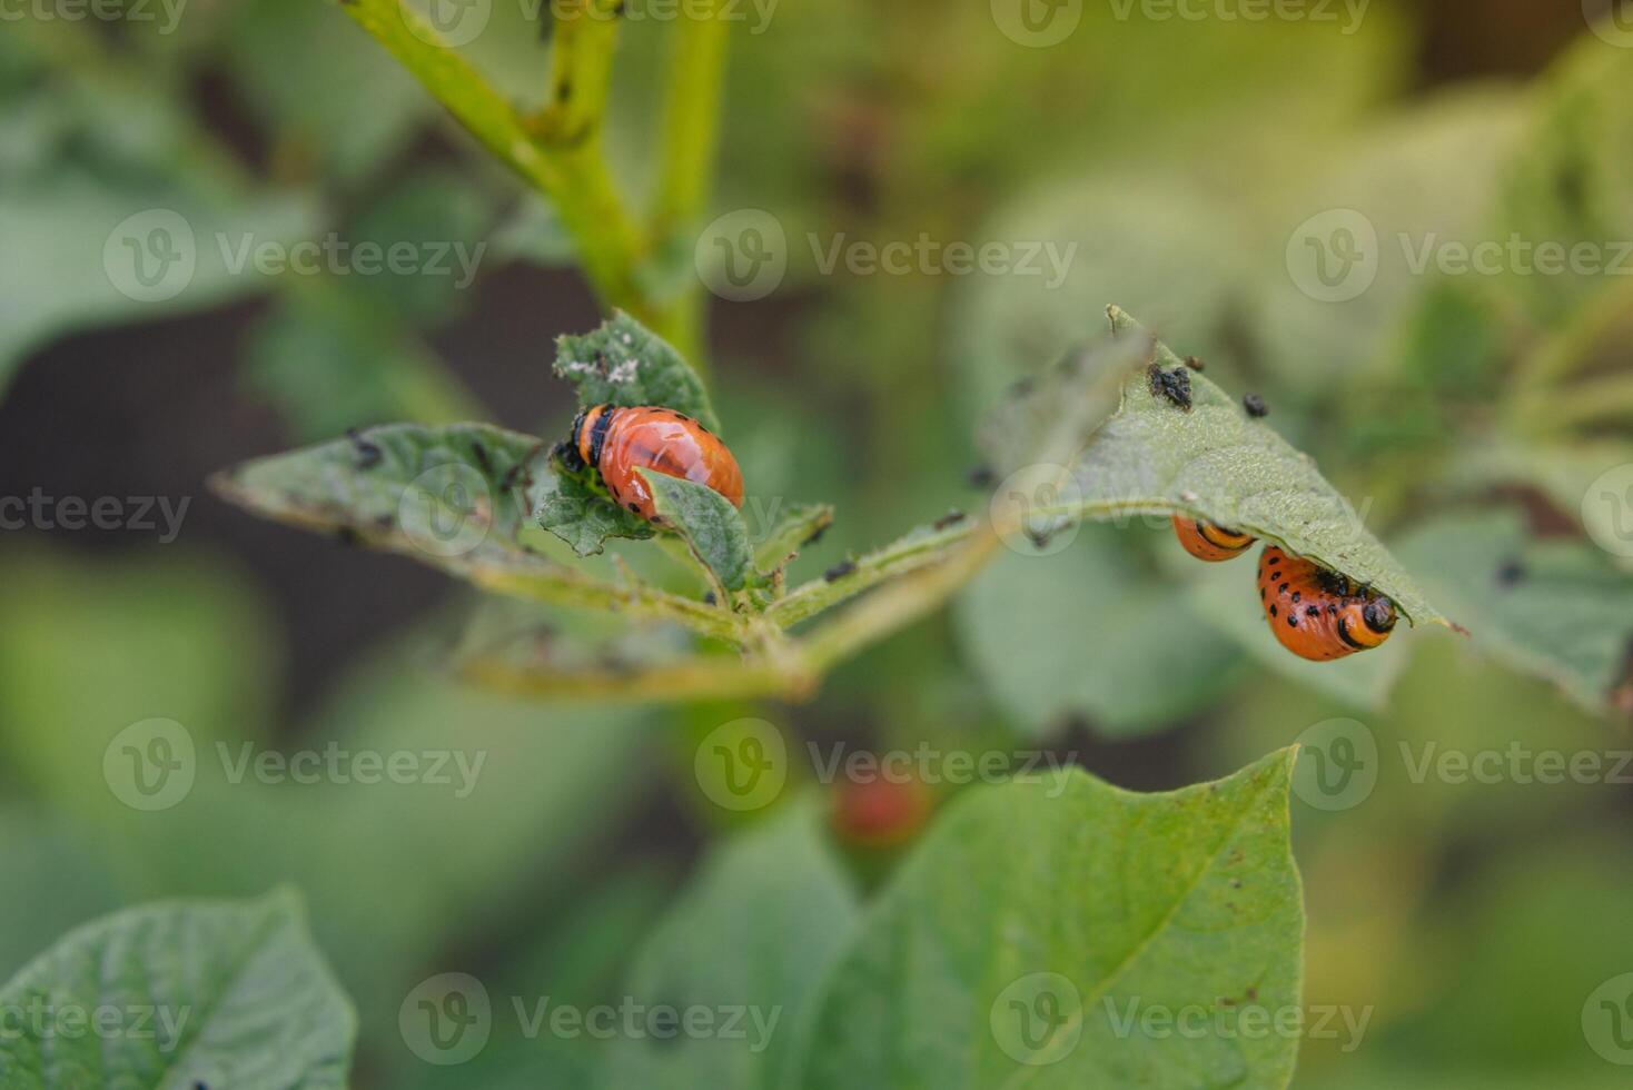
[[[1295,840],[1308,1002],[1372,1015],[1359,1048],[1308,1041],[1293,1085],[1626,1085],[1581,1020],[1633,971],[1633,791],[1612,782],[1633,769],[1607,775],[1633,747],[1633,578],[1620,507],[1584,501],[1633,463],[1633,281],[1414,271],[1396,238],[1520,235],[1615,259],[1633,240],[1633,33],[1591,29],[1574,2],[1375,0],[1359,23],[1339,5],[1331,21],[1164,21],[1084,3],[1070,36],[1029,47],[996,10],[830,0],[733,28],[714,209],[769,212],[787,274],[763,299],[712,300],[707,364],[753,491],[838,507],[800,571],[983,511],[967,480],[981,411],[1115,302],[1225,388],[1259,392],[1471,638],[1403,627],[1373,656],[1311,667],[1270,643],[1248,571],[1190,563],[1161,527],[1084,527],[1050,560],[1004,556],[807,705],[462,687],[446,669],[459,646],[544,627],[590,641],[607,622],[480,604],[403,560],[256,522],[202,481],[382,421],[560,434],[552,339],[599,317],[552,210],[331,5],[8,16],[0,496],[49,498],[56,522],[64,498],[188,506],[173,542],[131,519],[0,535],[0,976],[113,907],[291,883],[359,1007],[356,1085],[576,1085],[580,1059],[537,1043],[490,1044],[483,1074],[431,1067],[398,1004],[446,971],[493,994],[621,994],[710,845],[818,778],[805,741],[1043,749],[1166,790],[1352,718],[1375,785],[1331,811],[1300,793]],[[616,60],[607,142],[632,193],[670,29],[630,21]],[[465,47],[518,101],[544,91],[545,51],[506,3]],[[232,272],[206,245],[186,289],[150,302],[105,259],[147,209],[199,238],[485,248],[462,287]],[[1370,224],[1382,258],[1370,287],[1323,302],[1295,255],[1337,245],[1302,233],[1333,210]],[[921,233],[1076,250],[1058,286],[823,272],[815,255]],[[707,274],[689,246],[671,264]],[[736,814],[694,751],[743,715],[792,755],[782,796]],[[103,755],[152,718],[183,724],[198,778],[142,811]],[[235,783],[216,760],[217,742],[331,741],[485,764],[456,796]],[[1413,775],[1424,752],[1514,746],[1610,754],[1607,773]],[[888,871],[893,849],[844,822],[831,835],[859,883]]]

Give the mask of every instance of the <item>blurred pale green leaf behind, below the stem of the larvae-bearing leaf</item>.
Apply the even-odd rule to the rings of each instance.
[[[959,641],[996,703],[1032,738],[1075,716],[1125,738],[1218,697],[1241,656],[1195,638],[1190,607],[1119,548],[1117,530],[1079,534],[1053,556],[1001,553],[954,605]],[[1243,605],[1257,604],[1246,576],[1238,589]]]

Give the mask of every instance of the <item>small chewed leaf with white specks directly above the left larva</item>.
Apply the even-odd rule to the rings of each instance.
[[[573,383],[580,405],[661,405],[720,431],[697,372],[624,312],[593,333],[558,338],[555,374]]]

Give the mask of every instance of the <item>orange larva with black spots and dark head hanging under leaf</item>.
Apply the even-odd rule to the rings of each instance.
[[[1390,599],[1277,545],[1259,556],[1259,600],[1282,646],[1316,662],[1368,651],[1395,628]]]

